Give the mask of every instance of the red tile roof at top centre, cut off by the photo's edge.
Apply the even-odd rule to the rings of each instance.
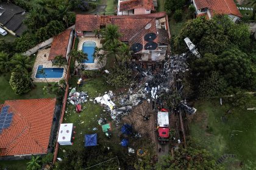
[[[132,9],[144,8],[146,10],[154,10],[153,0],[129,0],[121,1],[119,11],[127,11]]]

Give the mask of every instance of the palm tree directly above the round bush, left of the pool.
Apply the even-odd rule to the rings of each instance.
[[[10,61],[12,65],[19,69],[27,70],[27,72],[30,72],[32,61],[30,60],[29,56],[22,55],[20,53],[16,53],[12,60]]]

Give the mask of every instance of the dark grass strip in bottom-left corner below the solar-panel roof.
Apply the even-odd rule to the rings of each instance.
[[[29,160],[15,160],[15,161],[7,161],[7,160],[1,160],[0,161],[0,169],[7,168],[9,170],[25,170],[27,168],[27,162]]]

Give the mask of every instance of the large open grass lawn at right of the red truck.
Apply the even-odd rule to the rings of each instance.
[[[220,106],[219,101],[197,101],[197,109],[190,123],[190,134],[203,148],[212,152],[216,160],[223,154],[235,154],[235,160],[224,162],[226,169],[236,169],[235,164],[243,160],[244,164],[252,162],[252,169],[256,168],[256,126],[255,110],[233,108],[227,115],[227,121],[221,120],[228,106]],[[256,106],[256,98],[252,100]]]

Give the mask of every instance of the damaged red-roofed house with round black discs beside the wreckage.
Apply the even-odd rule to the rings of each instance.
[[[120,41],[133,50],[133,61],[162,61],[169,49],[168,16],[165,12],[148,15],[99,16],[76,15],[76,34],[94,37],[93,30],[107,24],[119,27]]]

